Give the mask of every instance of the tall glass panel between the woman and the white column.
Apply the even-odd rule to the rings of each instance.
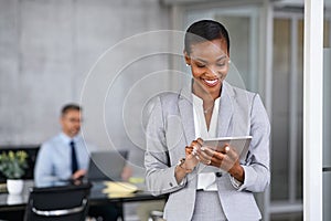
[[[273,62],[271,201],[293,202],[302,200],[302,19],[274,19]]]

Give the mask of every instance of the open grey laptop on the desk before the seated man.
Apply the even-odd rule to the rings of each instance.
[[[121,180],[128,150],[105,150],[90,152],[87,171],[88,181]]]

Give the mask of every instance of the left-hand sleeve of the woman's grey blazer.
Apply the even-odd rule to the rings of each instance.
[[[184,179],[178,183],[174,177],[175,166],[171,166],[166,139],[166,120],[160,97],[152,103],[151,114],[146,128],[145,167],[146,186],[152,194],[177,191],[185,186]]]

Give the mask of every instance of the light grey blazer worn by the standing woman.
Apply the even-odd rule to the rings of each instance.
[[[174,168],[185,157],[185,146],[195,139],[192,95],[190,90],[179,94],[164,93],[151,104],[146,130],[147,188],[153,194],[170,193],[164,219],[189,221],[195,203],[196,169],[177,183]],[[261,219],[253,192],[264,191],[270,181],[270,125],[258,94],[223,82],[217,136],[246,135],[252,135],[253,139],[247,158],[241,161],[245,170],[244,183],[237,189],[228,173],[216,177],[218,197],[229,221]]]

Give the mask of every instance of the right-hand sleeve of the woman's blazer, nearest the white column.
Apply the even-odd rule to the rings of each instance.
[[[238,191],[264,191],[270,182],[269,137],[270,124],[267,112],[258,94],[253,97],[250,110],[250,135],[253,136],[245,165],[244,183]]]

